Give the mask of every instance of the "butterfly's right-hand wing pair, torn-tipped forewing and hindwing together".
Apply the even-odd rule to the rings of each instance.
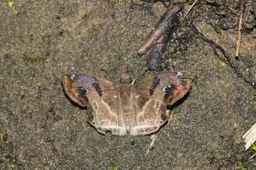
[[[191,79],[177,77],[183,74],[192,75],[188,71],[160,73],[134,84],[135,111],[131,135],[153,133],[167,121],[166,105],[172,105],[190,89]]]

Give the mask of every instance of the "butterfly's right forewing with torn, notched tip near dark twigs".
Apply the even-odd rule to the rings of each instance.
[[[134,84],[136,95],[172,105],[190,89],[192,79],[180,79],[177,76],[192,75],[189,71],[177,71],[155,74]]]

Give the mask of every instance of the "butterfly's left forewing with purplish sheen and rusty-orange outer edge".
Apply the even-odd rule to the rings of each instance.
[[[66,74],[61,81],[66,94],[81,106],[105,97],[113,97],[117,93],[114,82],[91,75]]]

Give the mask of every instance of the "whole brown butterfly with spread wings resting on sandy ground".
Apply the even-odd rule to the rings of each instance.
[[[87,107],[87,121],[99,133],[138,136],[156,132],[168,119],[172,105],[190,89],[189,71],[155,74],[134,83],[128,74],[120,85],[92,75],[62,76],[64,91],[71,100]]]

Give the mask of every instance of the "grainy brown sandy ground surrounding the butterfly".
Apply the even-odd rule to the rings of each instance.
[[[139,57],[137,48],[166,10],[162,3],[15,2],[10,7],[1,1],[0,9],[1,170],[216,170],[237,169],[239,163],[255,169],[255,159],[247,161],[255,151],[243,153],[241,136],[256,122],[256,91],[229,65],[222,66],[212,46],[197,36],[184,42],[186,52],[172,59],[175,71],[191,71],[197,78],[146,156],[152,135],[101,135],[87,123],[86,109],[65,95],[61,76],[67,73],[117,83],[126,66],[138,79],[155,74],[145,73],[146,55]],[[201,8],[197,28],[251,78],[241,59],[232,57],[237,28],[217,34],[205,12],[210,7]],[[256,73],[251,36],[243,34],[240,54],[246,62],[254,57],[247,64]]]

